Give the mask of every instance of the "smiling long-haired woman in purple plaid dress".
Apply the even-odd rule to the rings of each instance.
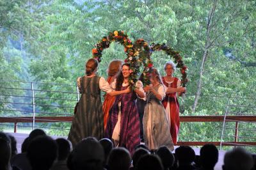
[[[111,83],[111,88],[116,91],[130,88],[130,74],[130,65],[124,63],[122,72]],[[105,131],[106,137],[112,139],[115,146],[127,148],[131,155],[134,153],[134,147],[140,144],[140,118],[135,100],[137,97],[145,97],[142,82],[136,82],[135,86],[130,93],[116,96]]]

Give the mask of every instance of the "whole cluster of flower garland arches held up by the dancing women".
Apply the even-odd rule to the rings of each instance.
[[[179,52],[173,50],[172,47],[168,47],[164,43],[162,45],[159,43],[152,43],[152,45],[148,47],[148,43],[143,39],[136,40],[133,45],[124,31],[113,31],[109,33],[108,36],[104,36],[102,40],[95,45],[95,48],[92,49],[93,58],[97,59],[99,63],[102,58],[102,51],[107,49],[111,42],[118,42],[124,46],[124,52],[127,55],[124,62],[130,64],[131,75],[129,77],[129,83],[131,84],[132,89],[135,88],[134,82],[138,81],[138,73],[140,72],[140,66],[142,65],[144,66],[144,69],[141,81],[143,84],[150,84],[150,72],[153,67],[150,56],[155,50],[163,50],[168,56],[172,56],[175,59],[174,62],[177,63],[177,67],[180,68],[180,73],[182,74],[182,86],[186,87],[188,82],[188,67],[184,65],[184,61],[182,61]]]

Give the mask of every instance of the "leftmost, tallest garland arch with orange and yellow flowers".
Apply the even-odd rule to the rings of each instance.
[[[138,72],[140,71],[140,65],[137,62],[137,54],[132,48],[132,42],[128,38],[127,34],[124,31],[113,31],[109,33],[108,36],[104,36],[100,42],[95,45],[95,48],[92,49],[93,58],[97,59],[100,63],[102,58],[102,51],[107,49],[111,42],[118,42],[124,46],[124,52],[127,55],[125,63],[130,63],[131,75],[129,77],[129,83],[134,89],[134,82],[138,80]]]

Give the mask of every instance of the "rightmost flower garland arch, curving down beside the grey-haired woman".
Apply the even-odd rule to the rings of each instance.
[[[150,45],[150,52],[154,52],[155,50],[163,50],[166,52],[168,56],[172,56],[174,59],[174,63],[177,63],[177,67],[180,68],[180,73],[182,75],[181,84],[183,87],[186,87],[186,84],[188,82],[188,67],[184,64],[184,61],[182,60],[182,57],[180,56],[179,52],[172,49],[172,47],[168,47],[163,43],[162,45],[157,43],[152,43]]]

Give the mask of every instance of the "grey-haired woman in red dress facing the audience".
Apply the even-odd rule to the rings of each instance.
[[[173,61],[169,61],[164,65],[166,76],[162,77],[163,84],[166,86],[166,96],[162,100],[166,111],[166,118],[170,126],[172,141],[177,144],[180,118],[179,118],[179,101],[177,93],[180,95],[186,91],[186,88],[180,86],[180,79],[173,77],[176,66]]]

